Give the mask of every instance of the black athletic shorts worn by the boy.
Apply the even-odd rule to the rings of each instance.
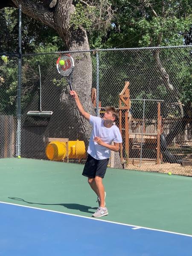
[[[89,178],[95,178],[95,176],[104,178],[108,161],[109,158],[96,160],[90,154],[88,154],[82,175]]]

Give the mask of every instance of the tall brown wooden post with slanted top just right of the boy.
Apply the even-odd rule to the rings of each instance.
[[[122,110],[125,111],[125,152],[126,152],[126,165],[128,165],[129,160],[129,123],[128,123],[128,113],[130,109],[130,92],[129,92],[129,82],[125,81],[125,86],[122,92],[119,94],[119,128],[122,133]],[[122,146],[121,149],[121,160],[122,160]]]

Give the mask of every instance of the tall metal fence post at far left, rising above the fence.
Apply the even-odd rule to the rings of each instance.
[[[16,156],[20,155],[20,95],[21,95],[21,5],[19,5],[19,56],[18,56],[18,83],[17,83],[17,145]]]

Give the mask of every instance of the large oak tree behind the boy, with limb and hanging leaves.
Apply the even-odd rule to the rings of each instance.
[[[63,40],[64,49],[68,51],[88,51],[90,47],[87,32],[81,25],[81,20],[80,22],[76,20],[76,4],[79,2],[88,6],[88,9],[93,8],[96,12],[98,12],[96,8],[99,7],[98,19],[95,19],[93,12],[90,11],[95,19],[95,24],[93,26],[101,28],[100,19],[102,19],[102,15],[105,15],[105,19],[102,21],[104,27],[106,28],[108,26],[112,17],[112,11],[111,4],[108,4],[107,1],[100,1],[99,3],[93,3],[92,1],[89,4],[82,0],[8,0],[1,2],[0,8],[18,8],[20,4],[24,14],[35,20],[41,21],[44,25],[49,26],[57,32]],[[77,22],[71,22],[72,20]],[[93,104],[90,97],[92,89],[92,61],[90,52],[75,52],[73,53],[73,58],[75,59],[75,71],[73,73],[72,81],[73,89],[79,94],[85,111],[94,114]],[[73,127],[73,134],[78,134],[78,139],[84,140],[87,145],[91,131],[90,125],[85,122],[84,119],[79,117],[79,112],[73,105],[71,97],[69,96],[69,93],[66,93],[66,90],[63,90],[60,99],[61,102],[63,102],[64,109],[67,110],[64,119],[67,120],[68,127]],[[76,118],[74,118],[74,116],[76,116]],[[58,116],[58,118],[61,121],[61,116]],[[57,127],[55,127],[55,130],[56,129]],[[57,132],[55,134],[57,134]],[[116,158],[116,167],[121,167],[117,154]]]

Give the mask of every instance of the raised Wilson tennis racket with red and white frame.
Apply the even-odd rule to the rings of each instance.
[[[73,70],[75,68],[74,60],[69,54],[61,55],[57,59],[57,71],[61,76],[64,76],[67,80],[70,90],[73,90],[72,84],[71,84],[71,78],[73,74]]]

